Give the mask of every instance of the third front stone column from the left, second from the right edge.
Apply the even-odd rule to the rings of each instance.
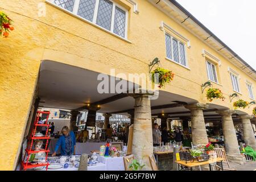
[[[225,151],[228,159],[231,162],[244,164],[245,159],[240,154],[238,146],[237,135],[234,129],[234,123],[232,114],[235,113],[233,110],[217,111],[222,117],[222,131],[224,136]]]

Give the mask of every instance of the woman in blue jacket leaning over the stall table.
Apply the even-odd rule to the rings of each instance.
[[[61,130],[63,135],[60,136],[56,143],[56,147],[52,156],[56,155],[57,150],[60,148],[61,155],[75,155],[76,152],[76,136],[73,131],[69,131],[68,126],[64,126]]]

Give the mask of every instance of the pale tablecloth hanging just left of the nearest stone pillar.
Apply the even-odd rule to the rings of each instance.
[[[104,157],[98,155],[98,161],[106,164],[106,171],[125,171],[123,157]]]

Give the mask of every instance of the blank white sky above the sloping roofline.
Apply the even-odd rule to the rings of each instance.
[[[255,0],[176,0],[256,69]]]

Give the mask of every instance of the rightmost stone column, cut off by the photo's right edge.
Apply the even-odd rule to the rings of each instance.
[[[256,150],[256,139],[253,132],[253,127],[251,127],[250,119],[253,119],[253,115],[241,115],[242,126],[243,126],[243,140],[245,140],[246,146],[252,147]]]

